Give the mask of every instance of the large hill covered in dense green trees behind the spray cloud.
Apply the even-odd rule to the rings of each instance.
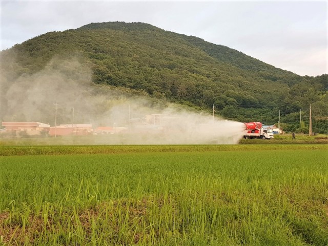
[[[327,75],[299,76],[201,38],[144,23],[92,23],[75,30],[49,32],[0,53],[7,80],[42,70],[54,57],[89,64],[95,84],[146,92],[238,121],[277,124],[307,131],[327,127]],[[4,62],[6,61],[6,62]],[[8,71],[11,71],[10,73]],[[299,112],[304,113],[300,126]]]

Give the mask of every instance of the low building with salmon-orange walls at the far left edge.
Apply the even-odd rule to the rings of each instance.
[[[2,122],[2,126],[5,127],[4,132],[25,132],[27,135],[40,135],[50,128],[49,124],[41,122]]]

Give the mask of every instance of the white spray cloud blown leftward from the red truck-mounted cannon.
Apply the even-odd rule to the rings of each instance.
[[[240,122],[95,85],[88,65],[75,58],[52,59],[42,71],[15,79],[11,73],[1,77],[2,121],[53,127],[57,103],[57,126],[92,125],[88,136],[57,136],[62,144],[79,137],[85,144],[237,144],[243,134]]]

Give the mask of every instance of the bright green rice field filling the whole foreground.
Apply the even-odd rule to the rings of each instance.
[[[1,244],[328,245],[328,146],[2,146]]]

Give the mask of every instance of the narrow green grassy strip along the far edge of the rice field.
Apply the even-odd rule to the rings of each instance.
[[[263,141],[247,139],[250,141]],[[264,140],[265,141],[265,140]],[[269,141],[267,141],[268,143]],[[150,152],[202,151],[272,151],[272,150],[328,150],[328,145],[132,145],[132,146],[0,146],[0,156],[68,155],[68,154],[126,154]]]

